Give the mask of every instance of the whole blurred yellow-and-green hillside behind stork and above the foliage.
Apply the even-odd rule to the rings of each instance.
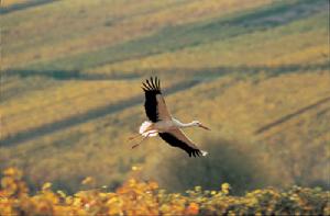
[[[168,191],[330,189],[329,1],[2,0],[0,168],[73,193],[86,177]],[[132,150],[141,82],[162,80],[206,158]]]

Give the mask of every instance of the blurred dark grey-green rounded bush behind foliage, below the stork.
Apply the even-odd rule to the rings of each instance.
[[[202,149],[209,151],[207,157],[189,158],[180,149],[172,148],[166,158],[148,164],[151,167],[143,175],[174,192],[191,190],[196,185],[218,191],[227,182],[232,187],[231,194],[239,195],[253,189],[277,185],[268,170],[272,161],[263,164],[256,145],[218,138],[205,140]]]

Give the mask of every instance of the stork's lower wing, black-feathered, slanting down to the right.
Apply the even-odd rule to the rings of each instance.
[[[180,129],[173,129],[167,133],[160,133],[160,136],[170,146],[184,149],[189,155],[189,157],[207,155],[206,151],[198,149],[198,147]]]

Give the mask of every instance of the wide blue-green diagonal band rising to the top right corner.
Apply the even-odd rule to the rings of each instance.
[[[167,25],[145,37],[139,37],[110,47],[101,47],[95,52],[73,54],[30,66],[46,69],[52,66],[65,66],[65,68],[81,70],[132,59],[139,60],[147,56],[174,53],[215,41],[226,41],[253,32],[267,31],[326,10],[326,1],[275,2],[254,10],[248,10],[238,14],[233,13],[228,16],[222,15],[209,21]],[[94,58],[92,61],[86,60],[90,57]]]

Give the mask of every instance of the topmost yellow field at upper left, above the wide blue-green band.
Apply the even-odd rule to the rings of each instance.
[[[189,23],[270,2],[58,1],[43,7],[43,10],[36,8],[19,13],[15,18],[8,14],[2,19],[0,23],[3,23],[6,34],[2,36],[4,46],[1,67],[13,68],[92,52],[150,35],[168,25]],[[12,22],[22,19],[24,22]],[[26,33],[31,38],[29,41],[24,39]]]

